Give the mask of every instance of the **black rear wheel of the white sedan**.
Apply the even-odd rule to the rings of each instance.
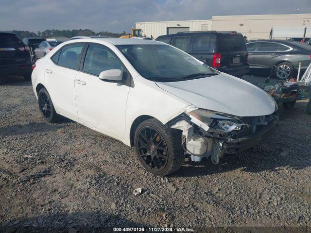
[[[41,88],[38,92],[38,104],[40,113],[46,122],[52,123],[59,119],[59,115],[54,109],[51,97],[45,88]]]

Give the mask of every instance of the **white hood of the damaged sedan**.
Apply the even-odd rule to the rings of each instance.
[[[220,113],[265,116],[276,109],[274,100],[265,91],[225,73],[201,79],[155,83],[198,108]]]

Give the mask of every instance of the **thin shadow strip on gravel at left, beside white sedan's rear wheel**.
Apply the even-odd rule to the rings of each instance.
[[[64,119],[64,123],[67,123],[67,120]],[[12,125],[0,127],[1,136],[17,136],[22,134],[34,134],[34,133],[47,133],[51,131],[57,131],[58,129],[63,128],[64,126],[59,124],[47,124],[45,122],[35,122],[25,125]]]

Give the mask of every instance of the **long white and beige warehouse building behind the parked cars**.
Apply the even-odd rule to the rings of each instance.
[[[248,39],[269,39],[273,27],[311,27],[311,14],[213,16],[211,20],[138,22],[136,27],[140,28],[144,35],[154,38],[182,31],[215,30],[237,31],[246,35]],[[283,36],[292,38],[288,35]],[[298,33],[296,36],[302,37],[303,31],[301,35]]]

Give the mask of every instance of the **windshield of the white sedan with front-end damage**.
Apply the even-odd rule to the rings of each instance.
[[[216,75],[203,62],[169,45],[117,45],[138,73],[159,82]]]

